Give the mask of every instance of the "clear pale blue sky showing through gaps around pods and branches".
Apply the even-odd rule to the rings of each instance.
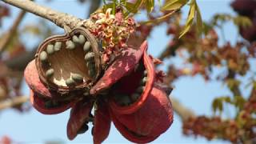
[[[36,2],[47,5],[54,10],[73,14],[78,18],[84,18],[86,16],[85,11],[88,6],[85,4],[79,4],[73,0],[54,0],[47,3],[42,0]],[[87,3],[86,3],[87,4]],[[201,9],[203,20],[207,21],[216,13],[229,13],[234,14],[230,9],[230,0],[198,0],[198,6]],[[185,6],[182,9],[185,14],[188,11],[188,7]],[[6,25],[6,22],[12,22],[13,18],[18,14],[18,9],[14,8],[14,13],[11,18],[5,19],[4,30],[10,25]],[[184,16],[185,18],[186,16]],[[38,17],[34,14],[27,14],[22,25],[25,23],[35,23]],[[53,25],[54,26],[54,25]],[[56,29],[60,30],[57,26]],[[62,32],[60,30],[60,32]],[[237,31],[232,24],[226,24],[225,26],[226,39],[234,42],[237,37]],[[33,45],[33,38],[22,38],[27,45]],[[148,38],[149,42],[149,54],[158,56],[165,48],[166,43],[170,40],[166,36],[166,25],[158,26]],[[28,42],[30,41],[30,42]],[[172,58],[166,63],[174,63],[176,65],[182,64],[178,59]],[[162,66],[164,69],[165,67]],[[28,87],[26,84],[23,86],[24,94],[28,95]],[[200,76],[194,78],[181,78],[177,82],[174,82],[174,90],[172,95],[178,98],[180,102],[194,110],[196,114],[212,114],[210,109],[211,101],[216,96],[222,96],[230,94],[230,91],[226,89],[226,86],[220,82],[205,82]],[[20,114],[15,110],[5,110],[0,114],[0,137],[2,135],[8,135],[13,138],[15,142],[22,143],[42,143],[46,140],[60,140],[66,143],[92,143],[92,136],[90,131],[86,134],[78,135],[74,141],[69,141],[66,138],[66,123],[68,121],[70,110],[62,114],[57,115],[43,115],[38,111],[32,109],[26,114]],[[91,127],[91,126],[90,126]],[[130,143],[122,135],[115,130],[112,125],[110,130],[110,136],[106,139],[106,143]],[[165,134],[162,134],[156,141],[152,143],[226,143],[223,141],[208,142],[205,138],[185,137],[182,135],[182,123],[178,118],[178,115],[174,115],[174,123]]]

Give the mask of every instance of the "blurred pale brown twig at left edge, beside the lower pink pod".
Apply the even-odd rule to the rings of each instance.
[[[27,96],[20,96],[20,97],[15,97],[15,98],[10,98],[5,101],[0,102],[0,111],[4,109],[8,109],[13,106],[18,106],[21,105],[22,103],[28,102],[29,97]]]

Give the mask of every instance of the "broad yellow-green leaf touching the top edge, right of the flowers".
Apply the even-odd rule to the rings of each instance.
[[[177,10],[184,6],[188,0],[167,0],[161,10]]]

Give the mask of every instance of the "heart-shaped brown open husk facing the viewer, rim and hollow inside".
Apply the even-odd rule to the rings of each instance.
[[[66,49],[66,43],[73,42],[72,40],[79,36],[81,38],[81,35],[84,36],[86,41],[77,42],[73,50]],[[39,55],[45,53],[44,51],[46,51],[47,46],[51,46],[56,42],[58,42],[58,46],[61,47],[58,47],[58,50],[55,51],[54,54],[48,55],[48,57],[43,60],[40,59]],[[59,42],[61,42],[61,44]],[[90,53],[94,54],[94,57],[90,59],[90,62],[94,64],[93,76],[89,74],[89,68],[86,67],[84,57],[87,53],[83,50],[84,43],[82,42],[90,42]],[[89,30],[78,27],[69,34],[47,38],[38,47],[35,61],[38,75],[42,83],[50,90],[58,91],[59,94],[68,94],[74,90],[83,90],[85,87],[94,85],[94,82],[97,81],[101,73],[100,58],[98,42],[94,36],[90,34]],[[54,70],[54,74],[47,77],[46,71],[50,69]],[[81,75],[83,79],[78,82],[78,79],[72,79],[72,74]],[[66,82],[66,80],[68,82]],[[75,83],[71,85],[70,82],[73,82],[73,80]],[[68,86],[67,83],[70,85]]]

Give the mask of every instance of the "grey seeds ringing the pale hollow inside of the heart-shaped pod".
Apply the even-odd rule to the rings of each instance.
[[[76,49],[79,50],[74,51]],[[81,64],[78,64],[78,62],[80,62],[80,59],[76,59],[78,58],[78,53],[84,54],[85,64],[83,67],[79,66]],[[63,54],[65,54],[66,56],[63,56]],[[62,59],[65,57],[70,59]],[[94,78],[96,76],[94,52],[92,50],[90,41],[86,40],[86,37],[82,34],[74,34],[72,37],[66,39],[65,41],[56,39],[52,42],[48,42],[45,48],[43,48],[40,52],[39,60],[42,63],[42,68],[45,71],[45,76],[47,80],[54,82],[54,84],[58,86],[77,86],[83,82],[88,81],[88,79]],[[72,67],[69,68],[67,67],[67,65],[76,66],[76,69],[78,69],[78,73],[75,73],[75,70],[72,71]],[[56,67],[59,67],[59,70],[56,70]],[[88,75],[83,75],[83,71],[81,72],[81,69],[83,68],[87,69],[89,78],[87,78]],[[68,69],[70,69],[69,76],[62,76],[64,75],[63,71]]]

